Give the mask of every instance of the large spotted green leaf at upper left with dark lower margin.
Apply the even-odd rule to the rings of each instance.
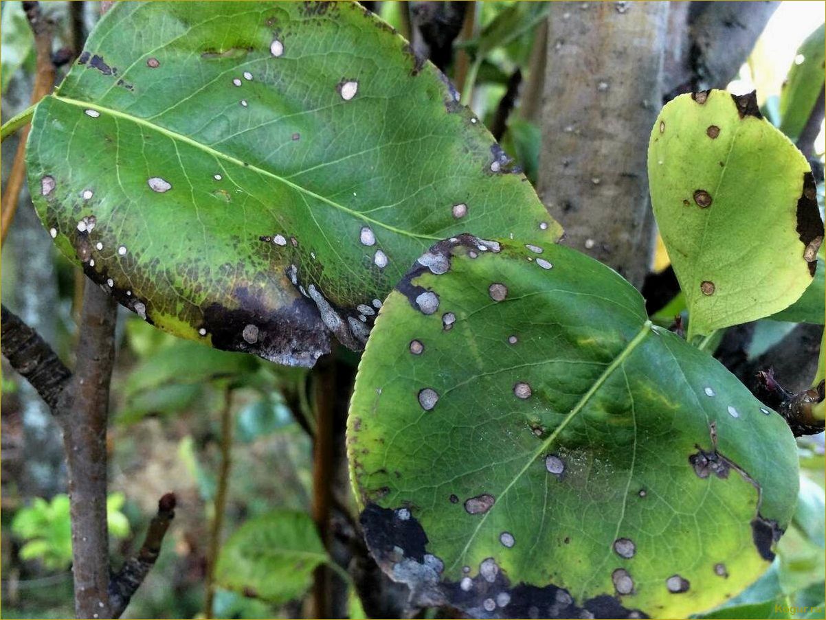
[[[38,106],[29,182],[121,304],[311,366],[435,240],[561,234],[457,100],[354,2],[118,2]]]

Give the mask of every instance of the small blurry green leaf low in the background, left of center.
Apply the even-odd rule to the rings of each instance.
[[[247,596],[286,603],[304,594],[312,571],[328,561],[305,513],[276,510],[244,523],[221,547],[216,581]]]

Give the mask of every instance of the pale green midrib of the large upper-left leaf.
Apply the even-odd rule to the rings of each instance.
[[[187,135],[179,134],[177,131],[169,130],[166,127],[162,127],[161,125],[156,125],[155,123],[146,121],[145,119],[140,118],[140,116],[132,116],[131,114],[126,114],[126,112],[115,110],[111,107],[102,106],[98,103],[83,102],[78,99],[73,99],[72,97],[63,97],[60,95],[51,95],[50,97],[54,98],[56,101],[59,102],[68,103],[69,105],[81,107],[83,109],[96,110],[101,112],[102,114],[109,114],[116,118],[123,119],[124,121],[133,122],[135,123],[135,125],[140,125],[150,130],[157,131],[159,134],[165,135],[170,140],[177,140],[178,142],[189,144],[190,146],[196,149],[201,149],[202,151],[204,151],[207,154],[210,154],[212,157],[216,159],[223,159],[227,162],[235,164],[236,166],[240,166],[240,168],[246,168],[247,170],[252,170],[255,173],[259,173],[265,177],[270,177],[275,181],[281,182],[287,187],[290,187],[293,190],[300,192],[301,194],[311,196],[312,198],[315,198],[317,201],[321,201],[326,205],[338,209],[339,211],[343,211],[344,213],[347,213],[348,215],[351,215],[358,220],[363,220],[364,222],[368,222],[372,225],[380,226],[383,229],[389,230],[393,233],[401,234],[403,236],[410,237],[411,239],[425,239],[426,241],[438,241],[439,239],[441,239],[441,237],[438,236],[433,236],[430,234],[417,234],[409,230],[396,228],[396,226],[386,224],[381,220],[374,220],[373,218],[368,217],[367,215],[364,215],[359,211],[354,211],[353,209],[349,209],[349,207],[346,207],[340,204],[339,202],[330,200],[330,198],[327,198],[326,196],[321,196],[320,194],[313,192],[311,189],[307,187],[303,187],[297,183],[289,181],[285,177],[280,177],[276,173],[270,172],[269,170],[266,170],[264,168],[259,168],[254,163],[244,162],[241,159],[235,158],[230,154],[226,154],[220,150],[213,149],[211,146],[207,146],[207,144],[202,144],[197,140],[192,140],[192,138],[188,137]]]

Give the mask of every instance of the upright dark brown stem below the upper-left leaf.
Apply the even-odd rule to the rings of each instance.
[[[73,399],[59,419],[69,468],[72,570],[77,618],[112,618],[109,608],[106,431],[115,361],[116,304],[86,283]]]

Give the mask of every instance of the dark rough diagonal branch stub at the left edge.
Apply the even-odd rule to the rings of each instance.
[[[26,378],[54,412],[72,372],[34,329],[0,305],[0,345],[2,354]]]

